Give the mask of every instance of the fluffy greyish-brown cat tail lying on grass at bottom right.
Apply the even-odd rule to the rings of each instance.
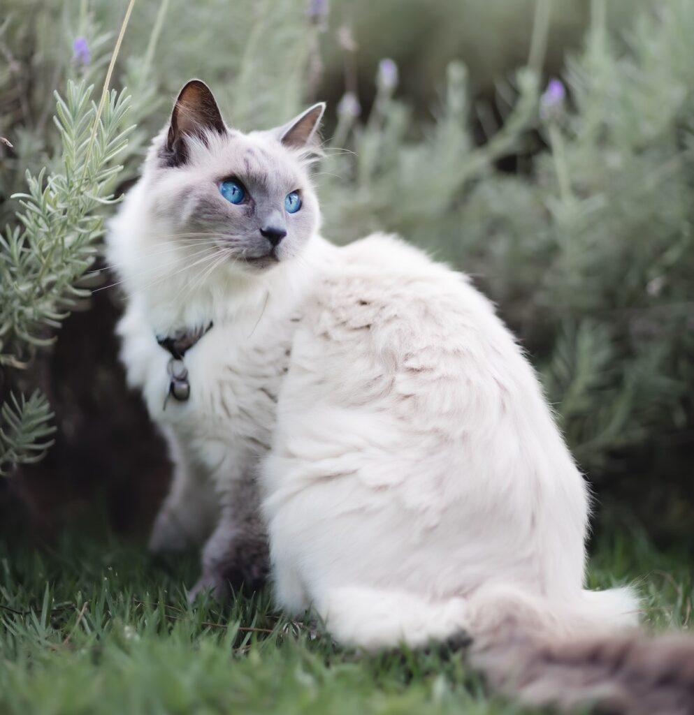
[[[694,714],[694,638],[620,628],[637,609],[627,589],[559,607],[504,591],[470,606],[469,660],[496,691],[562,711]]]

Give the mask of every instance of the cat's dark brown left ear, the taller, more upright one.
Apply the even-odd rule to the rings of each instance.
[[[166,139],[167,163],[170,166],[185,164],[188,157],[185,137],[204,139],[210,129],[220,134],[227,131],[210,88],[200,79],[191,79],[178,95],[171,113]]]

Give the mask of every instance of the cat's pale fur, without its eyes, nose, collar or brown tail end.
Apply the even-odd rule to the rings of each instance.
[[[583,588],[587,487],[537,378],[464,275],[396,237],[338,249],[318,236],[307,157],[321,113],[241,134],[202,83],[187,85],[112,223],[122,358],[177,468],[152,547],[214,526],[193,593],[257,582],[261,502],[278,605],[313,608],[341,643],[466,632],[500,688],[600,695],[587,658],[548,684],[546,648],[630,626],[638,603],[627,588]],[[230,176],[252,206],[220,196]],[[295,189],[303,207],[285,215]],[[267,220],[288,230],[277,265],[263,263]],[[190,400],[164,408],[155,335],[210,321],[185,358]]]

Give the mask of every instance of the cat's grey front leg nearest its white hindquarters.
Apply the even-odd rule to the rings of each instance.
[[[260,520],[258,493],[248,475],[225,494],[220,520],[202,551],[202,575],[188,597],[211,591],[218,600],[245,584],[255,590],[268,577],[268,537]]]

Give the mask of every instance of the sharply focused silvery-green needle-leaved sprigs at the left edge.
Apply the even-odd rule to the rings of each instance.
[[[16,194],[16,225],[0,237],[0,366],[23,366],[31,347],[49,345],[53,330],[89,290],[80,280],[97,255],[102,207],[112,203],[117,157],[127,145],[129,96],[110,92],[99,107],[92,87],[69,82],[54,122],[59,171],[26,173]],[[11,396],[0,412],[0,473],[39,460],[49,446],[49,405],[39,393]]]

